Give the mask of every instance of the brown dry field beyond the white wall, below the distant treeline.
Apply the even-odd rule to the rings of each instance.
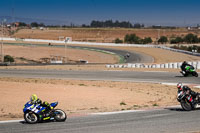
[[[182,37],[188,33],[200,35],[198,30],[188,31],[187,29],[50,28],[45,30],[22,29],[12,37],[58,40],[59,36],[64,36],[72,37],[73,41],[113,42],[116,38],[123,40],[126,34],[136,34],[141,38],[151,37],[155,41],[158,36]]]

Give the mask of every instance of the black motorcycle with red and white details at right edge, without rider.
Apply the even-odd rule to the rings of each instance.
[[[181,91],[178,91],[177,100],[178,102],[180,102],[183,110],[191,111],[191,110],[194,110],[196,106],[199,104],[199,95],[197,97],[193,97],[191,94],[188,94],[187,91],[181,90]],[[192,103],[195,103],[195,104],[192,104]]]

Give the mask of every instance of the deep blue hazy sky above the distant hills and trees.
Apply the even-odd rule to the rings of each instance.
[[[92,20],[145,25],[200,24],[200,0],[0,0],[0,16],[90,24]]]

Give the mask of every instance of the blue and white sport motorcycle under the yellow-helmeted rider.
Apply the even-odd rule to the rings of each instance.
[[[46,112],[46,107],[41,106],[40,104],[32,104],[27,102],[24,105],[24,119],[27,123],[34,124],[42,121],[65,121],[67,119],[66,113],[61,109],[54,109],[58,102],[50,104],[53,109],[48,113]]]

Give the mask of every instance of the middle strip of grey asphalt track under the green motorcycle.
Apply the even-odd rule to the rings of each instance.
[[[183,77],[179,72],[136,71],[66,71],[66,70],[17,70],[0,69],[0,77],[107,80],[153,83],[200,84],[200,77]]]

